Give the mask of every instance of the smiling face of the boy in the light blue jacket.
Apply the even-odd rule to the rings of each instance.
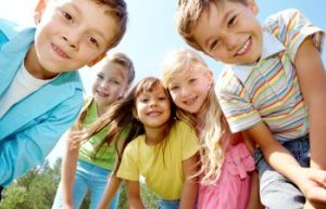
[[[103,54],[117,29],[108,11],[106,5],[90,0],[49,1],[27,54],[27,69],[53,77]]]

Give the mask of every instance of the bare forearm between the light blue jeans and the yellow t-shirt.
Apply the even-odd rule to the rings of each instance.
[[[98,209],[109,208],[115,193],[118,191],[122,180],[116,177],[115,173],[112,173],[106,183],[106,187],[103,194],[103,197],[100,201]]]

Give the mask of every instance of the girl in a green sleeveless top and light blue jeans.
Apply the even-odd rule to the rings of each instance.
[[[86,142],[80,144],[80,141],[85,136],[84,129],[124,96],[135,78],[135,70],[131,60],[120,52],[109,54],[95,68],[98,73],[91,88],[92,96],[87,100],[77,125],[68,132],[61,184],[52,209],[79,208],[87,191],[90,192],[89,208],[96,209],[114,167],[116,153],[113,145],[102,146],[108,127]],[[116,209],[117,200],[118,194],[113,198],[110,209]]]

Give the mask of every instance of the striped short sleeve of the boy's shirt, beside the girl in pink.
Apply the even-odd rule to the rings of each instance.
[[[222,74],[215,92],[233,133],[247,130],[262,120],[248,92],[235,76]]]

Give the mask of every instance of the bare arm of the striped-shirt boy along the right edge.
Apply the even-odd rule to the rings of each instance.
[[[299,47],[294,67],[309,110],[311,167],[326,170],[326,71],[311,37]]]

